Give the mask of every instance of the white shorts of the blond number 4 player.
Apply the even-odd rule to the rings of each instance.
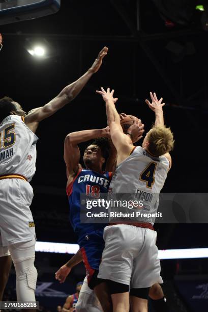
[[[104,229],[105,248],[99,278],[147,288],[162,283],[156,246],[157,232],[133,225],[117,224]]]

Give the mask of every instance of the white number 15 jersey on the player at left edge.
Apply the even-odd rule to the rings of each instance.
[[[37,141],[23,117],[6,117],[0,124],[0,175],[16,173],[31,181],[36,171]]]

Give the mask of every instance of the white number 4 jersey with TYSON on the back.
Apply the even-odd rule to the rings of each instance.
[[[129,157],[116,167],[108,192],[113,196],[120,193],[135,194],[130,197],[142,201],[143,212],[154,214],[158,209],[159,193],[165,183],[169,165],[166,157],[155,158],[145,149],[137,146]],[[136,219],[152,224],[155,221],[155,218]]]

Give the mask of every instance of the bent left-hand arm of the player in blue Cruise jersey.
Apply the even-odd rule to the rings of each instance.
[[[74,177],[78,169],[81,168],[80,151],[78,144],[99,137],[109,137],[110,133],[107,128],[83,130],[68,134],[64,142],[64,160],[67,166],[67,178]]]

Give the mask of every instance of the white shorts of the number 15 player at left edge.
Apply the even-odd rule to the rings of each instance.
[[[0,247],[33,240],[35,224],[29,206],[32,186],[22,179],[0,180]]]

